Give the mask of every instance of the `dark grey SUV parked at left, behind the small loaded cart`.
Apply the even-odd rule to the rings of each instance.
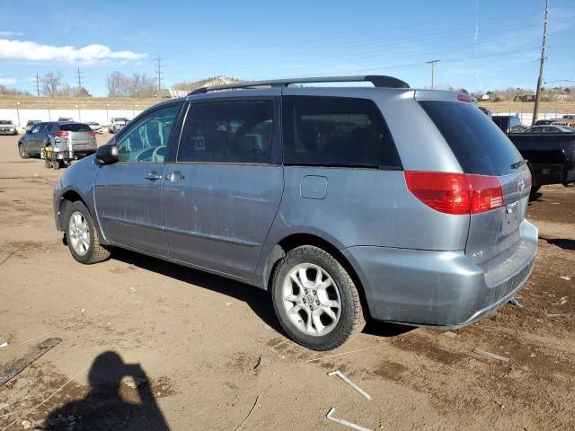
[[[61,141],[70,142],[75,155],[82,157],[96,151],[96,134],[84,123],[49,121],[34,125],[18,140],[18,152],[22,159],[40,156],[41,148],[52,145],[64,147]]]

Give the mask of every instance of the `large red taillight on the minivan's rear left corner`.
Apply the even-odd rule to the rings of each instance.
[[[503,206],[497,177],[449,172],[405,172],[413,196],[441,213],[462,215]]]

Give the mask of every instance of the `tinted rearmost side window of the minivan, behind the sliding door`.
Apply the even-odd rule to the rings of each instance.
[[[373,101],[286,96],[283,103],[285,164],[401,169]]]

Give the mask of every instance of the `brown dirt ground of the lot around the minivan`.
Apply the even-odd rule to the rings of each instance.
[[[62,341],[0,387],[0,431],[345,429],[332,407],[370,429],[575,429],[575,188],[529,206],[540,249],[524,308],[451,337],[371,322],[318,354],[284,336],[266,292],[130,252],[76,263],[53,223],[62,171],[15,142],[0,137],[0,374]]]

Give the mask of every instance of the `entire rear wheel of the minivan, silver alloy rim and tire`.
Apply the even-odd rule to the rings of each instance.
[[[302,346],[331,350],[360,332],[365,320],[358,290],[327,251],[298,247],[280,260],[272,295],[279,322]]]

